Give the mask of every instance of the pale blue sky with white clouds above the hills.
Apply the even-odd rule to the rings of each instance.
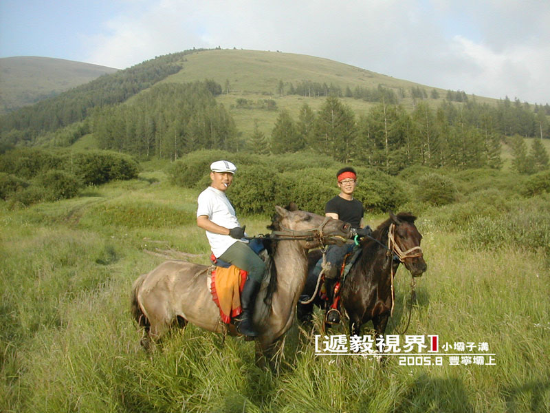
[[[124,69],[218,46],[550,103],[548,0],[0,0],[0,57]]]

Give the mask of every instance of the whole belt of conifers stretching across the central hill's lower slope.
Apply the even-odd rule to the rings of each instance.
[[[498,169],[503,136],[529,136],[536,129],[544,137],[549,133],[542,112],[528,115],[525,107],[507,100],[496,107],[444,100],[435,108],[422,100],[409,113],[382,98],[382,103],[358,116],[342,100],[329,96],[317,112],[305,103],[296,120],[283,109],[270,136],[254,121],[252,135],[245,140],[232,116],[215,100],[221,93],[221,86],[212,80],[157,85],[129,105],[96,109],[91,131],[101,149],[147,158],[177,160],[197,149],[259,154],[311,149],[339,162],[361,162],[391,174],[410,165]],[[542,145],[531,152],[542,153],[541,149]],[[520,157],[519,149],[517,153]],[[544,169],[544,156],[525,153],[523,163],[541,161],[531,162],[537,167],[518,170]]]

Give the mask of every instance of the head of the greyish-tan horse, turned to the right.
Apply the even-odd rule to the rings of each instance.
[[[300,211],[296,207],[289,211],[276,206],[275,210],[276,217],[270,228],[288,237],[301,238],[303,246],[307,249],[321,244],[345,242],[351,237],[351,226],[346,222]]]

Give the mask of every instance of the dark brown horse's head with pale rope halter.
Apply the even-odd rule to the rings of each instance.
[[[411,213],[390,213],[388,248],[399,257],[412,277],[421,277],[427,266],[420,248],[422,235],[415,226],[416,219]]]

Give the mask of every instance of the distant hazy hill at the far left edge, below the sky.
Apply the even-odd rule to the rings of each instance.
[[[0,114],[65,92],[118,69],[48,57],[0,59]]]

